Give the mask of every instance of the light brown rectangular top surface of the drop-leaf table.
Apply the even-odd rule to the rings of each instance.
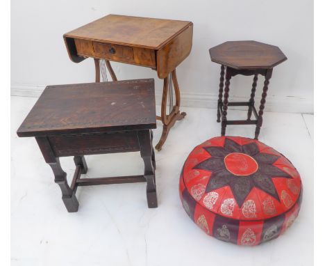
[[[171,19],[107,15],[65,33],[64,37],[159,49],[190,24]]]

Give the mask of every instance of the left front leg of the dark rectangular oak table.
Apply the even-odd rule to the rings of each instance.
[[[54,155],[49,140],[46,136],[37,136],[35,139],[38,142],[38,146],[40,146],[45,162],[51,166],[54,173],[54,182],[59,185],[62,191],[62,200],[65,203],[65,208],[67,208],[68,212],[77,212],[79,203],[76,194],[67,184],[67,173],[61,168],[60,160]]]

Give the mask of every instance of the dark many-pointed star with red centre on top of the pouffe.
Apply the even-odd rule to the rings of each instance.
[[[265,191],[280,201],[272,178],[292,178],[274,162],[280,157],[260,152],[255,142],[240,145],[225,138],[224,147],[203,147],[211,157],[193,169],[212,172],[206,193],[229,186],[240,208],[253,187]]]

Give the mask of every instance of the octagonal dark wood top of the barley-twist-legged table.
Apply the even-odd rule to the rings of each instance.
[[[211,61],[235,69],[274,68],[287,60],[280,48],[254,40],[224,42],[209,51]]]

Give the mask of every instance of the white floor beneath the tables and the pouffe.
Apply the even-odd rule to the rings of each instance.
[[[188,153],[219,136],[215,109],[183,108],[163,150],[156,152],[158,208],[147,208],[144,183],[80,187],[76,213],[68,213],[33,138],[15,134],[37,99],[12,97],[12,265],[313,265],[313,116],[265,113],[260,141],[297,167],[303,203],[294,225],[257,247],[238,247],[209,237],[185,214],[178,178]],[[229,111],[228,118],[244,111]],[[154,131],[158,142],[162,127]],[[253,136],[253,126],[228,126],[228,135]],[[142,174],[138,152],[86,156],[90,177]],[[69,179],[71,157],[62,159]]]

